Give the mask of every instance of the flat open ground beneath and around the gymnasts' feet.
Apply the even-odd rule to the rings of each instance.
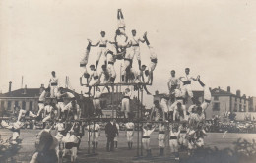
[[[35,135],[39,132],[39,130],[21,130],[20,138],[23,139],[21,143],[21,148],[18,150],[16,154],[11,153],[9,156],[8,162],[21,162],[26,163],[29,162],[32,154],[35,150],[34,141]],[[54,131],[52,134],[54,135]],[[12,135],[9,130],[0,129],[0,134],[2,139],[6,139]],[[88,144],[87,144],[87,136],[84,136],[81,143],[81,149],[78,153],[78,162],[175,162],[172,160],[170,155],[170,151],[168,148],[165,149],[164,157],[159,157],[159,148],[158,148],[158,133],[154,132],[151,136],[151,146],[152,146],[152,158],[145,157],[145,151],[143,150],[143,155],[137,157],[137,133],[134,135],[134,145],[133,149],[129,150],[127,147],[127,142],[125,138],[125,133],[123,131],[120,132],[118,137],[118,148],[115,149],[114,152],[106,152],[105,144],[106,137],[104,135],[104,131],[101,131],[101,136],[99,137],[98,149],[96,150],[96,154],[88,154]],[[238,138],[245,138],[251,141],[253,138],[256,138],[256,134],[229,134],[227,133],[223,137],[223,133],[209,133],[207,137],[205,137],[205,147],[214,148],[215,146],[219,149],[224,149],[227,147],[233,148],[233,142]],[[139,154],[141,154],[141,150],[139,150]],[[181,153],[180,157],[185,157],[186,153]],[[12,158],[11,158],[12,157]],[[3,159],[0,160],[3,162]],[[64,162],[69,162],[68,158],[65,158]]]

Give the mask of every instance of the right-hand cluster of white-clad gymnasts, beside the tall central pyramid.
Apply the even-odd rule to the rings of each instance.
[[[194,97],[191,81],[198,81],[203,87],[202,103]],[[169,95],[164,95],[160,101],[154,101],[151,112],[145,114],[148,123],[143,127],[142,142],[147,155],[151,156],[150,135],[159,127],[160,156],[168,143],[175,159],[179,159],[180,149],[187,149],[191,155],[195,149],[204,147],[204,136],[207,136],[204,130],[205,110],[211,102],[211,91],[200,76],[191,77],[189,68],[185,69],[185,76],[180,78],[176,78],[175,71],[172,70],[168,88]],[[186,107],[188,98],[192,100],[192,104]]]

